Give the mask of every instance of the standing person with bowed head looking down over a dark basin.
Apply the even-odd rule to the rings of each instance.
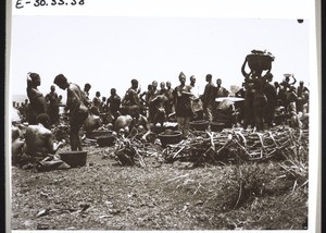
[[[88,116],[86,107],[88,101],[80,87],[77,84],[68,83],[63,74],[57,75],[53,83],[61,89],[66,89],[67,93],[66,107],[70,110],[71,148],[72,150],[83,150],[78,133]]]

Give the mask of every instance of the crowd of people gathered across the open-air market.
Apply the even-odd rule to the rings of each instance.
[[[179,85],[176,87],[172,87],[170,81],[161,82],[160,86],[153,81],[148,84],[147,90],[141,93],[139,82],[131,79],[130,87],[122,97],[115,88],[111,88],[108,98],[101,96],[100,91],[96,91],[96,96],[91,98],[90,84],[85,84],[82,89],[63,74],[54,77],[50,93],[43,95],[38,90],[41,85],[40,75],[28,73],[28,99],[21,105],[13,103],[13,108],[18,112],[20,122],[28,126],[22,143],[22,135],[16,133],[17,126],[13,121],[13,154],[22,155],[24,150],[30,156],[37,152],[37,156],[46,158],[57,151],[60,145],[54,145],[50,130],[61,123],[60,106],[64,107],[68,115],[72,150],[83,150],[80,128],[84,128],[86,136],[90,136],[91,132],[99,127],[124,134],[136,130],[138,133],[142,132],[141,139],[147,140],[155,127],[162,128],[166,122],[176,122],[183,138],[188,137],[191,121],[211,123],[228,120],[231,126],[247,128],[250,125],[258,131],[273,127],[275,124],[289,124],[293,127],[308,125],[309,88],[302,81],[296,87],[297,79],[292,74],[285,74],[280,83],[273,83],[272,73],[261,78],[243,74],[244,82],[237,91],[223,87],[221,78],[214,83],[212,74],[208,74],[204,90],[198,94],[196,76],[191,75],[187,84],[186,75],[180,72]],[[66,90],[66,103],[62,103],[62,96],[57,94],[55,85]],[[20,159],[13,161],[16,160]]]

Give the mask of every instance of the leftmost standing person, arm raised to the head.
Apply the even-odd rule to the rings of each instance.
[[[27,97],[29,99],[29,115],[27,118],[29,124],[37,124],[37,115],[47,113],[47,100],[43,95],[37,89],[40,86],[41,79],[37,73],[27,74]]]

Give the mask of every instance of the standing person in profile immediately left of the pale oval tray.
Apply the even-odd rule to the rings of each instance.
[[[206,75],[208,84],[202,95],[203,112],[209,122],[213,121],[213,103],[215,102],[215,86],[212,82],[212,74]]]

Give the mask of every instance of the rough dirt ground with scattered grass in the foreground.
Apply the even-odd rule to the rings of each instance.
[[[277,161],[192,168],[152,155],[139,168],[120,165],[110,148],[85,149],[82,168],[12,168],[12,230],[304,228],[308,188],[294,189]]]

